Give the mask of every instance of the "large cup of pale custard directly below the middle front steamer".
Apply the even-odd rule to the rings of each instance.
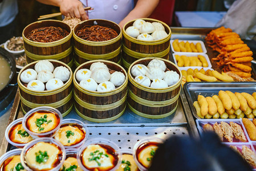
[[[121,162],[118,146],[107,139],[86,141],[76,157],[80,167],[87,171],[114,171]]]

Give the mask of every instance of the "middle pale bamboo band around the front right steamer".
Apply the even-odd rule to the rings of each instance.
[[[178,97],[180,97],[180,92],[173,97],[172,99],[165,100],[165,101],[151,101],[151,100],[145,100],[139,96],[136,96],[132,91],[128,88],[128,94],[129,97],[134,100],[135,102],[148,106],[148,107],[165,107],[166,105],[170,105],[174,103],[176,100],[178,100]]]

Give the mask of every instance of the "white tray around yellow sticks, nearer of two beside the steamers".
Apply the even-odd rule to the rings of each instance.
[[[200,53],[192,53],[192,52],[176,52],[176,53],[174,53],[174,54],[172,54],[172,57],[173,57],[173,60],[174,60],[174,63],[177,65],[177,60],[176,60],[176,58],[175,58],[175,55],[179,55],[179,56],[181,56],[181,55],[185,55],[185,56],[188,56],[188,57],[190,57],[190,56],[197,56],[197,55],[202,55],[202,56],[204,56],[205,57],[205,59],[206,59],[206,61],[208,62],[208,67],[196,67],[196,66],[194,66],[194,67],[179,67],[181,70],[188,70],[189,68],[192,68],[192,69],[196,69],[196,68],[204,68],[204,70],[206,71],[206,70],[208,70],[209,68],[212,68],[212,64],[210,63],[210,59],[209,59],[209,56],[207,55],[207,54],[200,54]],[[178,65],[177,65],[178,66]]]

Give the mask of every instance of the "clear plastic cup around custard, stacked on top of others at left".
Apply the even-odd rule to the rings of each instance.
[[[51,131],[43,132],[43,133],[36,133],[36,132],[30,131],[29,128],[27,128],[26,121],[27,119],[29,119],[29,117],[32,114],[38,111],[48,111],[51,113],[56,113],[56,115],[59,116],[59,124],[57,125],[57,127],[52,129]],[[62,125],[62,113],[60,113],[57,109],[52,107],[47,107],[47,106],[37,107],[37,108],[31,109],[29,112],[26,113],[26,115],[23,117],[22,125],[23,125],[23,128],[27,131],[27,133],[29,133],[29,135],[34,139],[39,137],[53,137],[59,131],[60,125]]]

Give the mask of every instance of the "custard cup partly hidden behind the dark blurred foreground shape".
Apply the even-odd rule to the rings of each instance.
[[[160,144],[164,143],[164,140],[157,137],[150,137],[138,141],[133,147],[133,158],[141,171],[147,171],[151,166],[152,158],[155,156],[156,150]],[[149,149],[150,148],[150,149]],[[144,153],[143,162],[139,161],[139,156],[142,157],[143,150],[148,150],[148,154]],[[141,154],[141,155],[140,155]]]

